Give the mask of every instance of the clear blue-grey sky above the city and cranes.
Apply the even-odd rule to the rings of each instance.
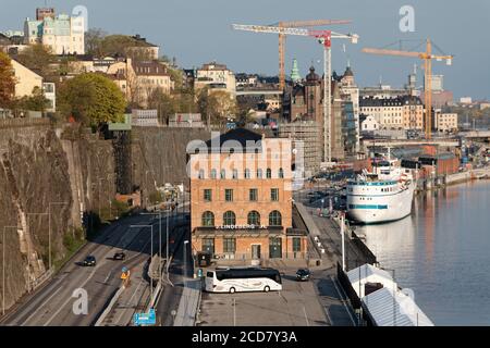
[[[140,34],[175,57],[184,67],[217,60],[235,72],[278,74],[278,39],[271,34],[234,32],[232,23],[273,24],[279,21],[345,18],[352,25],[332,26],[339,33],[357,33],[358,45],[336,40],[333,69],[343,72],[347,59],[360,86],[402,86],[417,59],[368,55],[363,47],[383,47],[400,39],[430,37],[445,53],[454,54],[452,66],[434,62],[433,73],[444,75],[445,89],[455,97],[490,99],[490,1],[488,0],[48,0],[58,12],[75,5],[88,9],[89,27],[111,34]],[[45,0],[0,0],[0,30],[22,29],[25,17]],[[415,32],[399,28],[402,5],[415,9]],[[411,42],[412,46],[416,44]],[[411,45],[406,48],[411,48]],[[298,60],[302,75],[311,62],[322,71],[322,49],[314,39],[287,39],[286,70]],[[419,70],[419,84],[422,71]]]

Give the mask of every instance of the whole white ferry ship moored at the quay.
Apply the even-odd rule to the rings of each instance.
[[[411,170],[385,161],[347,183],[347,216],[363,224],[401,220],[412,213],[416,183]]]

